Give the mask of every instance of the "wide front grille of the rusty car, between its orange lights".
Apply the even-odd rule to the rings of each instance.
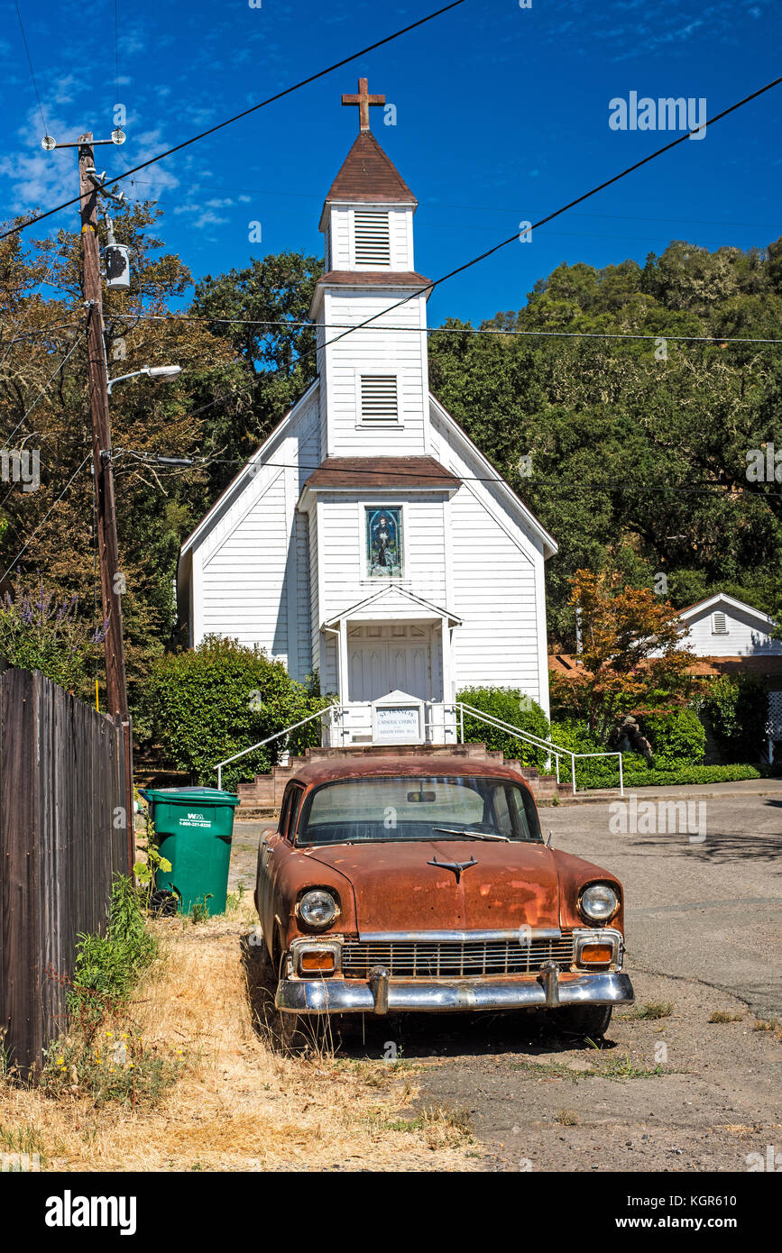
[[[480,979],[482,975],[536,975],[544,961],[573,962],[573,933],[531,940],[346,940],[342,974],[368,979],[372,966],[385,966],[392,979]]]

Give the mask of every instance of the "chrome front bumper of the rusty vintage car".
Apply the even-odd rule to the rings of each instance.
[[[553,967],[553,969],[551,969]],[[281,979],[274,1005],[288,1014],[395,1014],[454,1010],[554,1009],[563,1005],[632,1005],[629,975],[565,975],[554,962],[536,979],[388,979],[376,967],[357,979]]]

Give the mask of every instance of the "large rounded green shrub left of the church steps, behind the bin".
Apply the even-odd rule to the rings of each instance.
[[[203,784],[214,784],[214,766],[243,748],[328,705],[291,678],[282,662],[272,662],[257,645],[208,635],[196,649],[160,658],[145,684],[144,704],[152,717],[153,739],[179,769]],[[318,719],[227,767],[223,787],[274,766],[282,751],[302,752],[320,744]]]

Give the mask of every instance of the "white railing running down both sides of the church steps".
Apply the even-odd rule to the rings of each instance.
[[[624,771],[622,764],[622,753],[574,753],[570,748],[563,748],[561,744],[553,743],[551,739],[543,739],[540,736],[535,736],[531,730],[523,730],[521,727],[514,727],[509,722],[504,722],[501,718],[495,718],[494,714],[484,713],[482,709],[476,709],[474,705],[465,704],[464,700],[444,702],[444,700],[424,700],[422,704],[430,710],[429,717],[425,720],[425,742],[435,742],[435,732],[442,733],[442,739],[437,739],[437,743],[447,743],[447,736],[457,736],[459,743],[465,742],[465,713],[469,718],[477,718],[479,722],[486,723],[487,727],[494,727],[496,730],[503,730],[506,734],[513,736],[515,739],[520,739],[534,748],[543,749],[548,757],[554,758],[554,768],[556,773],[556,782],[560,782],[560,758],[570,758],[570,779],[573,784],[573,794],[576,794],[575,786],[575,763],[576,761],[585,759],[588,757],[618,757],[619,758],[619,796],[624,796]],[[367,720],[368,710],[368,720]],[[302,718],[301,722],[295,722],[291,727],[286,727],[284,730],[278,730],[273,736],[267,736],[266,739],[259,739],[257,744],[251,744],[249,748],[243,748],[241,753],[234,753],[233,757],[227,757],[223,762],[218,762],[214,767],[217,771],[217,786],[222,788],[223,786],[223,766],[229,766],[232,762],[238,762],[241,757],[247,757],[248,753],[253,753],[257,748],[263,748],[266,744],[271,744],[276,739],[282,739],[289,736],[292,730],[298,730],[300,727],[306,727],[307,723],[315,722],[316,718],[323,719],[328,715],[330,727],[327,729],[328,741],[332,743],[338,737],[341,746],[345,746],[346,737],[348,743],[352,741],[353,736],[361,734],[363,743],[372,742],[372,703],[371,702],[356,702],[353,704],[331,704],[326,705],[325,709],[318,709],[316,713],[311,713],[307,718]],[[451,718],[449,718],[449,712]],[[440,713],[441,718],[435,714]],[[368,737],[365,738],[365,732],[368,729]],[[321,741],[323,739],[323,728],[321,729]]]

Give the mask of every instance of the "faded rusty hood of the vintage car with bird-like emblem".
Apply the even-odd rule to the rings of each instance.
[[[556,863],[544,845],[397,841],[320,847],[310,858],[350,881],[360,935],[559,926]]]

